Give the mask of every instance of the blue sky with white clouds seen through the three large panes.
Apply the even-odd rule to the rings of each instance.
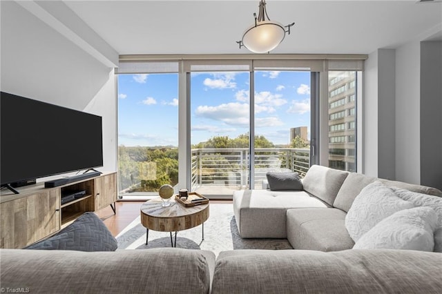
[[[119,145],[177,146],[178,76],[119,75]],[[310,73],[255,72],[255,133],[289,144],[290,128],[310,126]],[[191,143],[237,137],[249,128],[249,72],[191,75]]]

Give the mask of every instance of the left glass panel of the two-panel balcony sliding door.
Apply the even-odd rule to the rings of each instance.
[[[247,188],[249,72],[193,72],[192,189],[206,196]]]

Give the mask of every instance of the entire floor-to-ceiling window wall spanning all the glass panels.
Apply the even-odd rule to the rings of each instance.
[[[157,195],[172,184],[231,197],[265,188],[268,171],[302,176],[311,164],[361,171],[356,104],[365,57],[297,57],[123,57],[120,195]]]

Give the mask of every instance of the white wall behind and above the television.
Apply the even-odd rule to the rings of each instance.
[[[102,115],[101,170],[117,170],[113,68],[12,1],[1,1],[0,85],[5,92]]]

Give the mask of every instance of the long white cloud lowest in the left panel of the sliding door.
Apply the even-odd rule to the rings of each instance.
[[[222,121],[231,126],[249,125],[249,104],[232,102],[218,106],[198,106],[195,115],[215,121]]]

